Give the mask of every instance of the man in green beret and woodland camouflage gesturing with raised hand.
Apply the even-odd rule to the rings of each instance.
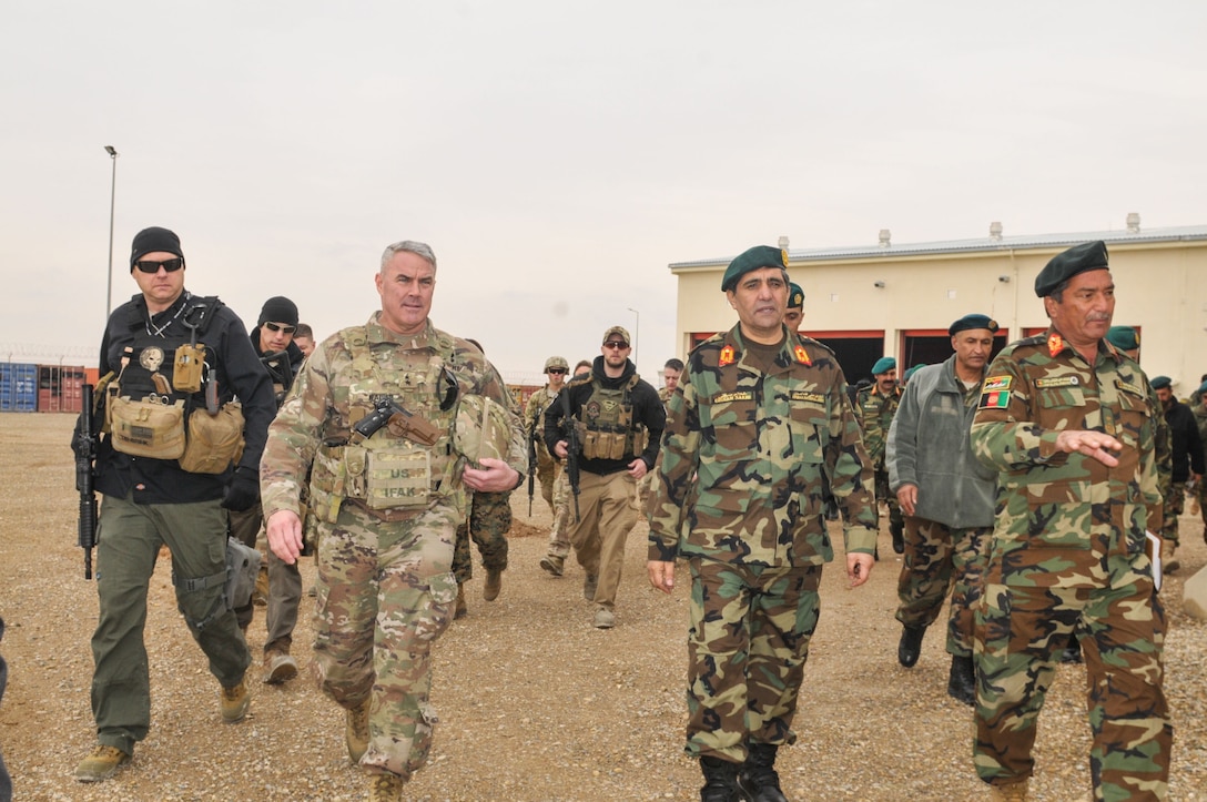
[[[997,356],[972,429],[974,453],[998,470],[976,615],[976,772],[995,798],[1027,798],[1036,724],[1072,632],[1095,798],[1164,800],[1166,622],[1145,554],[1145,531],[1161,525],[1160,406],[1139,365],[1102,339],[1115,305],[1103,242],[1054,257],[1036,294],[1051,327]]]

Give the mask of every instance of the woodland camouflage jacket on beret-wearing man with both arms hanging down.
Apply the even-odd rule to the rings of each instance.
[[[871,554],[873,474],[845,388],[833,352],[807,338],[786,339],[768,374],[739,327],[692,351],[667,402],[649,560],[828,562],[823,476],[845,505],[846,550]]]

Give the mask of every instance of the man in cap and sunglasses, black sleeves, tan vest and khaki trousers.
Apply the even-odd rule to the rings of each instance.
[[[629,359],[631,341],[622,326],[604,332],[590,373],[566,385],[544,414],[544,443],[559,459],[570,455],[570,427],[579,434],[578,516],[567,521],[566,537],[587,572],[583,597],[595,603],[600,630],[616,626],[624,544],[637,523],[636,482],[654,466],[666,421],[658,391]]]

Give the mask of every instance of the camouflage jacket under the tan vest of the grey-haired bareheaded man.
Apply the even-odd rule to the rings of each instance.
[[[459,397],[485,396],[508,410],[512,441],[507,463],[521,475],[527,472],[527,449],[514,399],[482,351],[441,332],[431,321],[421,334],[400,336],[381,327],[379,316],[380,312],[374,312],[366,326],[327,338],[302,367],[269,427],[268,445],[261,459],[261,502],[266,519],[278,510],[299,510],[302,482],[316,456],[338,462],[338,452],[349,441],[352,426],[372,411],[363,405],[363,387],[401,398],[408,411],[441,431],[439,439],[430,447],[431,475],[433,479],[448,476],[451,482],[433,488],[432,503],[451,504],[462,515],[467,507],[467,493],[460,482],[463,461],[457,459],[451,445],[454,399]],[[362,358],[360,353],[371,363],[367,375],[365,367],[357,364]],[[374,438],[390,437],[387,428]],[[319,470],[319,464],[315,464],[316,476],[325,473]],[[330,468],[326,473],[331,470],[337,469]],[[311,480],[316,507],[322,504],[325,494],[316,492],[317,481],[317,478]],[[338,507],[340,499],[334,500]]]

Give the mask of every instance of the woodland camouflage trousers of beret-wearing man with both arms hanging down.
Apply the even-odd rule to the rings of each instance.
[[[821,566],[760,568],[694,557],[688,631],[692,757],[746,760],[753,743],[791,744],[817,628]]]

